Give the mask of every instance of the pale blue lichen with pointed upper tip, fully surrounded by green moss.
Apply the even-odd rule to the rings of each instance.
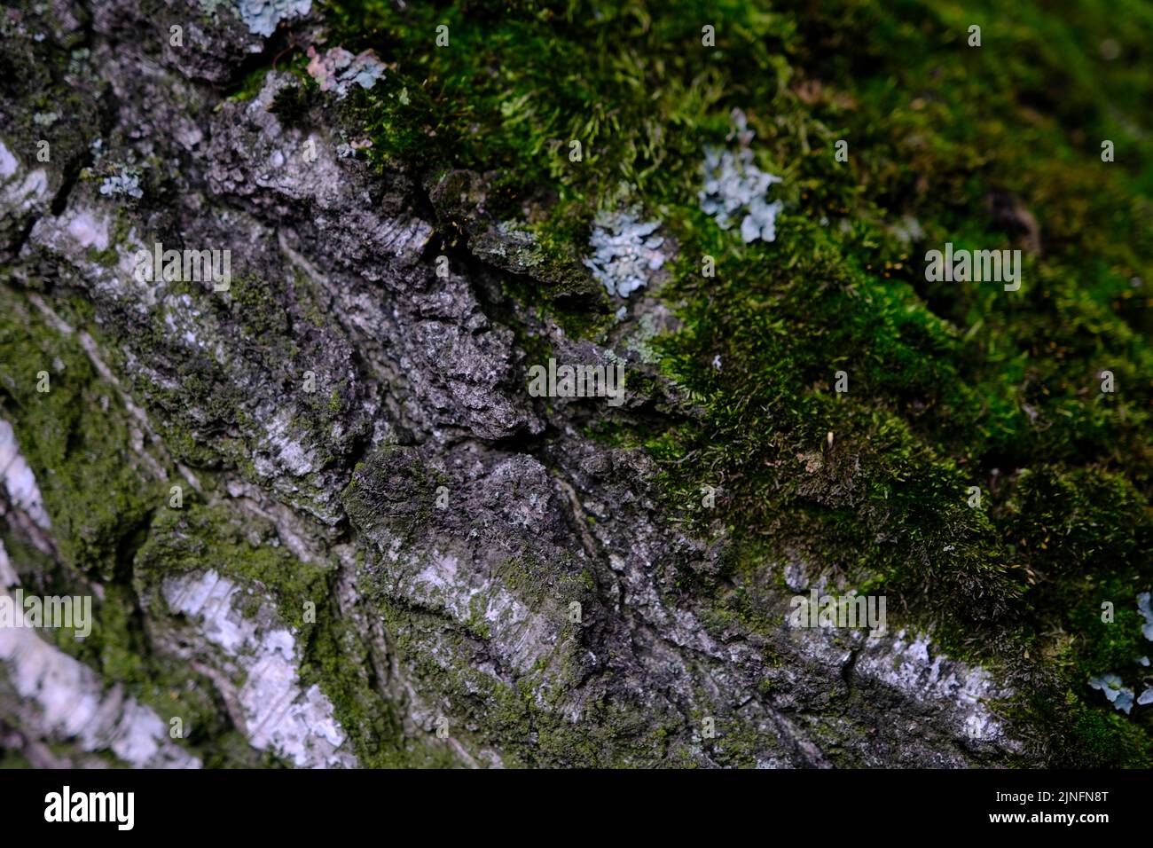
[[[749,147],[754,133],[748,129],[740,110],[733,110],[732,117],[733,134],[739,142],[737,152],[711,145],[704,148],[704,188],[698,193],[701,211],[713,216],[722,230],[729,230],[739,217],[740,237],[746,242],[775,241],[782,204],[781,201],[769,202],[768,192],[774,182],[781,182],[781,178],[756,167]]]

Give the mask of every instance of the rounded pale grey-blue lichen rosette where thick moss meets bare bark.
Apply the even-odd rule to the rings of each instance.
[[[631,212],[602,212],[593,224],[593,256],[585,265],[611,295],[627,298],[648,285],[651,272],[666,258],[660,248],[664,238],[654,235],[658,222],[641,222]]]

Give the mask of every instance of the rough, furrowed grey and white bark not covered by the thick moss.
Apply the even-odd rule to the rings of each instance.
[[[526,391],[526,339],[606,350],[505,293],[533,271],[480,213],[437,273],[481,175],[422,185],[347,155],[333,96],[285,118],[291,73],[235,96],[284,28],[189,23],[178,0],[46,5],[5,13],[0,300],[22,357],[0,388],[0,583],[91,594],[96,626],[88,648],[0,630],[0,744],[136,766],[1024,756],[996,708],[1011,686],[927,636],[753,629],[683,591],[723,534],[673,519],[643,451],[586,435],[602,402]],[[80,178],[121,164],[140,197]],[[229,250],[229,291],[141,282],[156,242]],[[630,368],[651,380],[626,412],[684,399]],[[55,430],[30,450],[33,426]],[[781,621],[830,579],[777,562],[756,601]]]

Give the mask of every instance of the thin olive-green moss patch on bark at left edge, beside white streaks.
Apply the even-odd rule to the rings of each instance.
[[[142,465],[138,425],[119,390],[97,374],[80,330],[59,332],[8,290],[0,290],[0,300],[2,414],[40,487],[59,562],[12,533],[5,548],[30,591],[92,596],[90,578],[103,586],[92,598],[91,633],[77,640],[71,630],[54,630],[56,646],[123,685],[165,723],[179,716],[186,730],[180,744],[205,760],[253,764],[247,745],[227,753],[221,746],[231,726],[211,683],[157,652],[145,628],[130,570],[148,547],[153,515],[163,518],[167,510],[168,485]],[[47,392],[36,390],[38,370],[48,372]]]

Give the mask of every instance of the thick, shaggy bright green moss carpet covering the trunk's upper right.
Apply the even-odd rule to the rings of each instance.
[[[1116,713],[1087,685],[1147,653],[1135,611],[1153,581],[1147,7],[323,12],[340,44],[390,63],[348,103],[379,162],[489,174],[489,212],[555,256],[587,252],[600,209],[641,207],[675,237],[662,297],[683,329],[660,352],[686,400],[603,431],[660,460],[675,510],[719,488],[715,512],[683,518],[730,536],[732,564],[708,585],[684,575],[687,591],[756,621],[741,609],[753,573],[820,563],[1017,681],[1050,761],[1148,764],[1148,710]],[[771,243],[743,243],[696,202],[703,147],[726,143],[734,108],[759,166],[784,178]],[[945,242],[1020,248],[1020,290],[926,282],[924,254]],[[610,312],[548,285],[521,297],[560,318]],[[603,322],[587,327],[601,338]]]

